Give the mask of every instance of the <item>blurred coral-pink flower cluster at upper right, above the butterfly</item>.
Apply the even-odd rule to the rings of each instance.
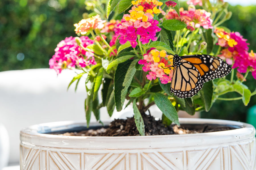
[[[179,9],[179,14],[174,9],[170,9],[166,15],[167,19],[177,19],[184,21],[187,24],[187,28],[191,31],[194,28],[199,28],[202,26],[205,29],[212,29],[212,19],[210,19],[211,13],[203,9],[194,9],[189,8],[184,10],[183,8]]]

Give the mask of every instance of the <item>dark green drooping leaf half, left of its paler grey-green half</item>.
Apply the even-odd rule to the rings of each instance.
[[[121,58],[121,57],[120,57]],[[115,106],[117,111],[121,111],[123,103],[121,100],[121,91],[124,89],[123,81],[125,79],[126,72],[132,63],[132,60],[127,60],[117,65],[117,69],[114,75],[114,91],[115,91]]]

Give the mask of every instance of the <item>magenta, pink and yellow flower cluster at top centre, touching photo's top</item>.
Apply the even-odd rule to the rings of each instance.
[[[156,41],[156,33],[161,30],[158,21],[154,20],[154,14],[161,13],[160,6],[162,2],[156,0],[138,0],[132,1],[133,7],[129,10],[130,14],[124,14],[121,23],[117,26],[119,28],[115,33],[120,35],[118,38],[120,44],[130,42],[131,46],[137,46],[137,36],[140,35],[139,41],[146,44],[151,39]],[[159,8],[157,8],[159,6]]]

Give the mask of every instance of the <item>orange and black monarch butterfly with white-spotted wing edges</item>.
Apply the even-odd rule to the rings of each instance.
[[[192,97],[202,89],[203,83],[231,72],[231,67],[220,58],[211,55],[179,56],[177,51],[172,67],[170,91],[179,98]]]

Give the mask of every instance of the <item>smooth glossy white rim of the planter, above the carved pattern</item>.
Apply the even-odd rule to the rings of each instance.
[[[199,134],[181,134],[181,135],[153,135],[153,136],[61,136],[51,134],[40,134],[45,130],[63,130],[73,127],[86,126],[85,120],[79,121],[61,121],[43,123],[29,126],[20,132],[20,140],[22,143],[31,143],[32,145],[42,147],[55,148],[77,148],[77,149],[147,149],[159,147],[187,147],[198,146],[200,143],[209,145],[220,145],[220,143],[232,144],[243,143],[247,139],[255,137],[255,128],[247,123],[236,122],[230,120],[215,120],[215,119],[195,119],[195,118],[180,118],[181,124],[222,124],[240,126],[239,129],[207,132]],[[98,126],[99,123],[91,123],[91,126]],[[128,143],[134,145],[127,148]],[[121,144],[121,145],[120,145]],[[131,146],[131,145],[130,145]]]

